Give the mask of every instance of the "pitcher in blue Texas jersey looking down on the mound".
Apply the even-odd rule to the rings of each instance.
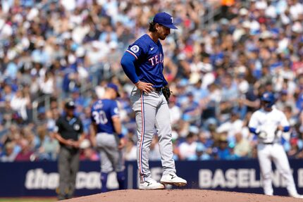
[[[149,23],[147,34],[131,44],[120,61],[125,74],[135,84],[130,100],[137,123],[139,189],[164,189],[163,184],[187,184],[185,179],[175,175],[168,97],[163,95],[168,82],[163,76],[164,54],[159,39],[166,39],[171,29],[177,29],[173,25],[173,17],[168,13],[157,13]],[[163,166],[161,183],[152,179],[149,170],[149,148],[155,128]]]

